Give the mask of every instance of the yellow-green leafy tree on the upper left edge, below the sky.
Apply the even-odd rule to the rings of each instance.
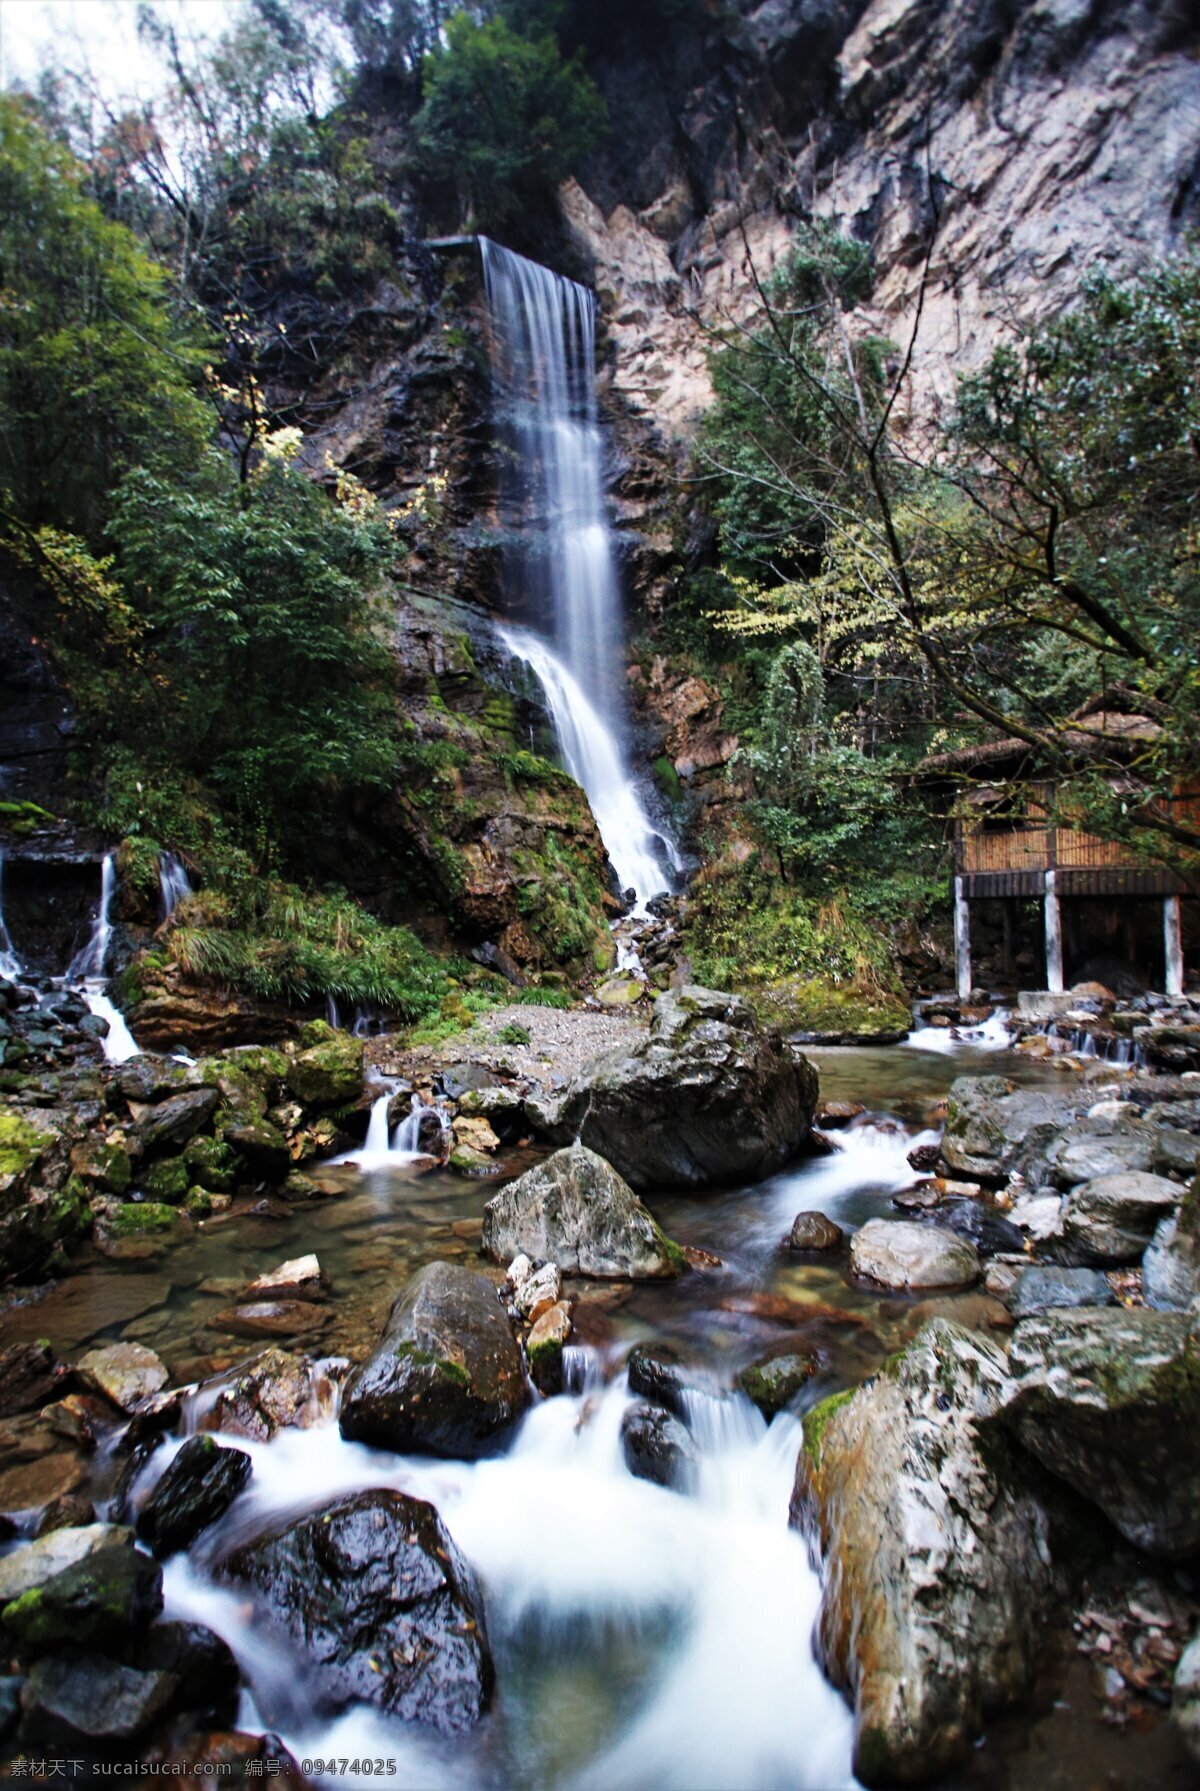
[[[124,469],[186,473],[211,430],[202,358],[163,269],[0,95],[0,537],[4,514],[95,532]]]

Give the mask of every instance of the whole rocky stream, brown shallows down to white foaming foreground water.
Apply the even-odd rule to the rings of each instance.
[[[165,1592],[168,1617],[206,1623],[238,1655],[242,1727],[274,1730],[301,1762],[337,1759],[333,1777],[313,1768],[337,1784],[373,1777],[376,1759],[394,1761],[389,1778],[405,1791],[833,1791],[854,1782],[851,1712],[811,1650],[819,1574],[788,1528],[802,1413],[768,1426],[733,1383],[743,1365],[786,1345],[813,1302],[824,1322],[804,1336],[810,1347],[817,1340],[822,1372],[802,1406],[861,1381],[933,1309],[978,1322],[978,1293],[878,1297],[853,1288],[840,1263],[788,1257],[781,1239],[801,1209],[847,1229],[894,1213],[890,1196],[915,1180],[906,1155],[937,1137],[937,1103],[955,1075],[1003,1066],[1023,1082],[1042,1082],[1053,1073],[978,1044],[813,1057],[822,1098],[867,1100],[867,1112],[835,1134],[829,1155],[767,1182],[652,1196],[666,1230],[711,1250],[720,1266],[666,1284],[570,1282],[579,1302],[570,1392],[534,1406],[505,1454],[439,1461],[347,1444],[333,1399],[315,1427],[285,1429],[267,1444],[229,1438],[253,1456],[253,1478],[192,1555],[167,1565]],[[528,1152],[509,1152],[503,1173],[530,1161]],[[201,1379],[256,1352],[210,1329],[233,1290],[283,1257],[315,1250],[333,1302],[313,1309],[324,1325],[319,1338],[288,1347],[364,1352],[412,1270],[437,1257],[480,1266],[480,1214],[498,1186],[419,1173],[403,1153],[369,1164],[321,1166],[328,1198],[287,1216],[235,1207],[147,1261],[84,1257],[45,1298],[0,1318],[0,1345],[48,1336],[70,1356],[90,1341],[136,1338],[167,1359],[177,1383]],[[700,1447],[690,1494],[636,1479],[625,1467],[618,1433],[630,1395],[620,1361],[639,1340],[675,1345],[709,1388],[690,1411]],[[176,1447],[150,1458],[141,1488]],[[442,1743],[367,1707],[313,1718],[303,1662],[254,1626],[244,1598],[208,1576],[210,1558],[272,1519],[365,1487],[430,1499],[480,1576],[498,1694],[466,1741]],[[1048,1709],[1039,1734],[1050,1741],[1032,1753],[1026,1728],[1008,1728],[1012,1737],[1001,1728],[1001,1744],[989,1739],[955,1782],[998,1791],[1091,1782],[1055,1777],[1078,1764],[1080,1748],[1107,1766],[1105,1784],[1148,1782],[1110,1777],[1114,1757],[1132,1759],[1128,1737],[1100,1728],[1085,1687]],[[367,1764],[344,1773],[342,1761]]]

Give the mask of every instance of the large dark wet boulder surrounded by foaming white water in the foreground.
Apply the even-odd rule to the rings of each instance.
[[[480,1590],[423,1499],[351,1494],[235,1549],[217,1576],[258,1594],[326,1710],[371,1703],[460,1735],[491,1703]]]

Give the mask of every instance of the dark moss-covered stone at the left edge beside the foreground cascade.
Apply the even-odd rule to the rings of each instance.
[[[140,1635],[163,1608],[163,1572],[138,1549],[95,1549],[0,1612],[9,1637],[27,1653],[95,1644],[113,1650]]]

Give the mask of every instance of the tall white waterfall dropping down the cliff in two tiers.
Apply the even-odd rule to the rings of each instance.
[[[645,903],[677,854],[629,765],[621,600],[604,507],[596,304],[586,287],[480,236],[493,322],[505,573],[544,634],[503,629],[546,693],[559,750],[582,784],[623,890]]]

